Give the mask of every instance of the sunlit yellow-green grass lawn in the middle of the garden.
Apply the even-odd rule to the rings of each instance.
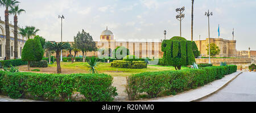
[[[75,63],[69,63],[69,62],[61,62],[61,68],[62,69],[70,69],[72,73],[89,73],[89,69],[85,66],[87,63],[83,62],[75,62]],[[136,73],[142,73],[142,72],[156,72],[156,71],[169,71],[169,70],[175,70],[172,66],[157,66],[157,65],[150,65],[147,68],[143,69],[129,69],[129,68],[117,68],[110,67],[110,63],[101,63],[96,70],[99,73],[106,73],[112,76],[130,76]],[[56,67],[55,64],[49,64],[48,67]],[[187,67],[182,67],[181,69],[185,69]]]

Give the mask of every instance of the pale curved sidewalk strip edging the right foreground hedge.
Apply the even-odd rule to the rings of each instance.
[[[221,80],[216,80],[198,89],[192,89],[177,95],[171,95],[163,98],[141,100],[143,102],[192,102],[197,101],[207,95],[217,92],[220,88],[228,84],[230,81],[236,79],[242,72],[236,72],[231,75],[225,76]]]

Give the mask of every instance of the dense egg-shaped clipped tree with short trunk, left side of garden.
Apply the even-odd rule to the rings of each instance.
[[[22,60],[28,62],[28,71],[30,70],[30,62],[42,60],[43,55],[44,50],[39,40],[27,40],[22,50]]]

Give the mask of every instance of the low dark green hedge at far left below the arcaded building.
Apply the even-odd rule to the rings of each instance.
[[[1,60],[0,61],[1,68],[3,67],[11,67],[12,66],[22,66],[27,65],[27,61],[22,61],[22,59],[12,59],[12,60]]]

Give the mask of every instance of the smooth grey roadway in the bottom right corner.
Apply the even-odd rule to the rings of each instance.
[[[256,102],[256,73],[243,72],[229,85],[202,102]]]

